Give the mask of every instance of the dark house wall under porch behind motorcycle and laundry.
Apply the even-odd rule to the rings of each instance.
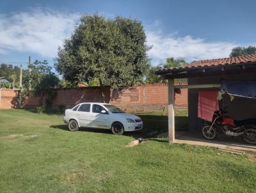
[[[255,79],[253,73],[237,73],[236,75],[218,75],[207,77],[193,77],[188,79],[188,85],[195,84],[220,84],[221,80],[243,81]],[[192,132],[200,132],[202,121],[198,118],[198,91],[214,91],[218,88],[205,89],[188,89],[188,116],[189,116],[189,130]],[[229,96],[225,96],[224,100],[220,102],[220,108],[225,108],[228,115],[237,120],[246,118],[256,118],[256,99],[236,97],[231,102]]]

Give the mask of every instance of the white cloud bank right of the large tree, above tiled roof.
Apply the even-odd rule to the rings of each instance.
[[[200,59],[228,57],[233,47],[230,42],[206,42],[202,38],[176,35],[164,36],[161,31],[147,31],[147,44],[153,45],[148,51],[152,65],[163,63],[166,58],[184,58],[191,62]]]

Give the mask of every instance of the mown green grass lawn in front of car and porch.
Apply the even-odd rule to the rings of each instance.
[[[141,117],[146,131],[166,119]],[[255,192],[245,156],[166,139],[126,148],[129,134],[66,128],[60,115],[0,111],[0,192]]]

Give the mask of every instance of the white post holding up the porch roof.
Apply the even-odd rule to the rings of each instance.
[[[175,143],[174,79],[168,79],[168,134],[169,143]]]

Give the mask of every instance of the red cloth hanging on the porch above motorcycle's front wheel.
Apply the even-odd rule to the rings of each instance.
[[[198,92],[198,118],[212,121],[214,111],[220,109],[217,97],[218,91]]]

